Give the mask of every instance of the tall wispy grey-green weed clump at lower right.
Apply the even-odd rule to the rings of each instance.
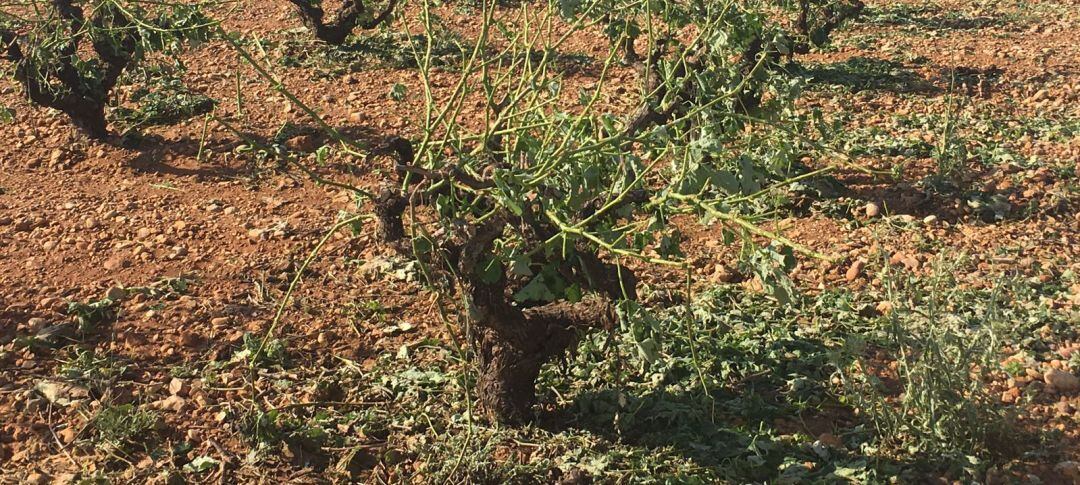
[[[914,455],[986,456],[1018,445],[1008,410],[987,390],[1000,369],[1000,342],[1009,323],[1000,289],[959,289],[957,262],[939,260],[927,282],[891,272],[882,281],[888,313],[876,332],[873,359],[841,368],[850,403],[877,430],[881,443]],[[866,355],[866,341],[848,350]]]

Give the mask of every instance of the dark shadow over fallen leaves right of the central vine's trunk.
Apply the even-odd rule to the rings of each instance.
[[[850,452],[870,436],[852,431],[858,419],[832,395],[831,362],[846,364],[823,341],[787,329],[739,340],[715,331],[698,342],[700,372],[732,376],[721,387],[704,391],[685,361],[660,383],[582,390],[540,426],[584,430],[645,456],[674,453],[731,480],[843,480],[842,470],[872,461],[877,470],[903,468]]]

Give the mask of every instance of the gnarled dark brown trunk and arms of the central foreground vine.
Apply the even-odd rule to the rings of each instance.
[[[453,181],[477,191],[490,187],[490,181],[455,169],[436,172],[413,166],[411,146],[403,138],[392,138],[381,151],[397,156],[396,171],[411,177],[410,184]],[[419,197],[406,201],[395,189],[384,190],[376,198],[375,213],[383,242],[407,252],[402,243],[405,235],[402,213],[408,203],[422,202]],[[480,368],[476,392],[482,408],[490,419],[504,423],[521,423],[531,417],[536,379],[544,363],[565,354],[577,342],[579,333],[612,328],[618,321],[613,302],[637,298],[637,278],[633,271],[605,262],[581,247],[576,253],[577,260],[564,265],[563,275],[595,293],[595,297],[531,308],[513,304],[512,286],[519,282],[509,281],[505,268],[498,269],[496,281],[484,281],[476,268],[488,262],[486,257],[495,253],[495,241],[515,220],[518,219],[509,214],[497,214],[471,227],[457,243],[443,241],[438,248],[443,266],[454,270],[468,296],[470,338]],[[526,235],[530,241],[543,241],[556,232],[531,211],[526,211],[519,223],[532,228],[532,233]]]

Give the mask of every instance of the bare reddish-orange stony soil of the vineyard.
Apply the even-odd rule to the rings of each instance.
[[[879,12],[906,12],[895,9],[906,2],[868,3]],[[302,38],[287,2],[240,4],[215,12],[226,28],[268,43]],[[909,3],[912,9],[919,5],[924,3]],[[969,201],[915,189],[915,181],[932,167],[924,156],[863,154],[859,160],[870,166],[904,165],[902,181],[841,172],[837,178],[852,192],[846,205],[831,210],[843,217],[811,211],[774,227],[839,258],[833,264],[800,260],[793,275],[811,292],[873,286],[875,282],[852,266],[879,250],[914,272],[929,271],[928,261],[935,255],[967,254],[971,261],[960,278],[973,286],[986,284],[989,274],[1049,282],[1068,271],[1080,272],[1080,3],[1032,1],[1017,6],[947,0],[936,5],[933,15],[913,14],[921,19],[916,23],[885,15],[860,21],[843,29],[831,49],[806,56],[801,62],[807,65],[851,66],[852,59],[862,59],[862,65],[878,70],[849,78],[822,71],[837,89],[812,90],[801,103],[826,113],[845,112],[852,144],[869,139],[858,138],[867,134],[878,140],[924,139],[933,145],[933,122],[900,126],[895,117],[941,113],[951,99],[962,98],[962,111],[973,119],[1002,122],[993,142],[1007,147],[1015,160],[970,162],[967,176],[986,198],[1001,196],[996,200],[1014,207],[1013,215],[987,220]],[[454,29],[469,31],[468,13],[446,9],[445,19]],[[576,54],[604,55],[604,42],[580,37],[569,43]],[[291,147],[310,149],[326,140],[302,110],[259,79],[228,45],[211,42],[184,59],[189,69],[185,83],[218,99],[217,116],[234,120],[253,137],[271,137],[292,122],[305,129],[287,142]],[[414,70],[365,67],[320,76],[316,69],[289,67],[276,73],[342,133],[374,146],[415,131],[422,99]],[[966,76],[960,82],[954,76],[958,71]],[[584,84],[595,72],[582,69],[576,76],[575,82]],[[636,82],[632,69],[616,76]],[[436,85],[449,90],[453,79],[446,75]],[[890,82],[896,89],[861,84],[893,85]],[[413,87],[404,102],[388,96],[395,83]],[[608,103],[619,105],[618,93]],[[314,184],[298,171],[238,154],[245,142],[219,123],[204,125],[201,117],[145,129],[136,146],[122,147],[86,140],[63,116],[29,105],[11,80],[0,83],[0,105],[16,113],[14,122],[0,124],[0,139],[5,142],[0,144],[0,483],[48,483],[94,470],[93,453],[75,446],[85,437],[86,416],[38,395],[41,382],[52,382],[70,355],[33,351],[18,339],[68,321],[68,301],[97,300],[119,288],[129,288],[126,297],[91,347],[124,362],[124,378],[114,387],[91,391],[91,400],[148,403],[161,409],[170,440],[242,462],[247,447],[222,425],[220,409],[222,403],[252,398],[253,388],[242,385],[244,371],[228,371],[214,386],[181,382],[176,392],[171,389],[175,369],[227,361],[245,334],[265,333],[278,298],[315,242],[340,211],[356,208],[351,196]],[[1054,121],[1024,124],[1031,119]],[[327,178],[373,187],[389,163],[379,157],[340,156],[319,171]],[[881,215],[868,216],[867,203]],[[885,216],[892,217],[890,225],[919,230],[869,224]],[[732,250],[714,234],[694,233],[689,247],[696,285],[737,279],[727,262]],[[342,231],[330,239],[279,331],[293,359],[307,366],[333,365],[337,359],[364,366],[406,340],[451,339],[433,295],[389,254],[375,242],[367,223],[355,233]],[[654,278],[658,284],[665,281],[660,274]],[[1072,288],[1071,295],[1074,299],[1052,305],[1076,311],[1080,288]],[[381,311],[415,328],[400,334],[387,331],[383,323],[357,321],[353,315],[362,301],[378,301]],[[1076,348],[1063,342],[1048,350],[1061,354],[1051,365],[1064,365]],[[1000,383],[1002,400],[1009,400],[1015,385]],[[98,392],[104,395],[95,395]],[[171,399],[174,395],[184,399]],[[1080,396],[1053,395],[1024,406],[1027,426],[1059,429],[1067,457],[1080,459]],[[130,471],[114,480],[140,480],[140,470],[153,467],[146,460],[150,458],[130,463]],[[1032,473],[1067,483],[1067,475],[1050,470],[1053,464],[1034,467]],[[244,480],[310,479],[302,470],[266,473]]]

